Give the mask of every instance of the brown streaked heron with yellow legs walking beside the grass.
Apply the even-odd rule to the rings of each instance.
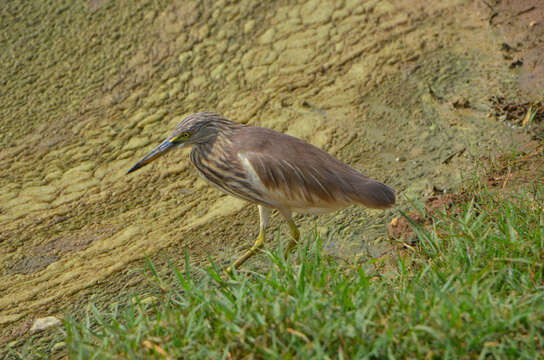
[[[292,214],[322,214],[352,204],[386,209],[395,191],[299,138],[230,121],[213,112],[183,118],[170,135],[132,166],[136,171],[173,149],[192,147],[190,161],[208,184],[256,204],[259,233],[226,272],[239,268],[264,245],[276,209],[290,229],[284,256],[300,240]]]

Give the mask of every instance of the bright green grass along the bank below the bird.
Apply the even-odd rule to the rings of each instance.
[[[149,264],[156,301],[67,316],[69,357],[544,358],[544,189],[475,199],[416,227],[413,251],[358,266],[315,236],[230,279]]]

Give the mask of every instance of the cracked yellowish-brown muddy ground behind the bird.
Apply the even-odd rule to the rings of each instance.
[[[542,99],[543,9],[537,0],[2,4],[0,346],[26,341],[35,318],[144,291],[146,255],[159,267],[185,252],[201,266],[227,264],[250,245],[255,206],[198,179],[187,152],[125,175],[200,110],[301,137],[393,186],[390,211],[297,217],[346,261],[391,251],[386,224],[407,199],[454,191],[482,158],[532,140],[492,98]],[[247,265],[260,266],[262,256]],[[51,337],[47,349],[62,340],[40,336]]]

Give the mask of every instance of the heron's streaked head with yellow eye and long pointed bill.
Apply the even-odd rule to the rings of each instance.
[[[166,154],[172,149],[209,142],[217,136],[218,128],[214,125],[223,122],[229,121],[210,112],[200,112],[187,116],[176,125],[174,131],[172,131],[166,140],[134,164],[134,166],[127,171],[127,174],[149,164],[151,161]]]

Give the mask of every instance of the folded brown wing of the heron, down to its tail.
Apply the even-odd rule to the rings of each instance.
[[[395,203],[393,189],[300,139],[258,127],[245,127],[234,136],[235,153],[247,159],[269,202],[291,208],[351,203],[387,208]]]

